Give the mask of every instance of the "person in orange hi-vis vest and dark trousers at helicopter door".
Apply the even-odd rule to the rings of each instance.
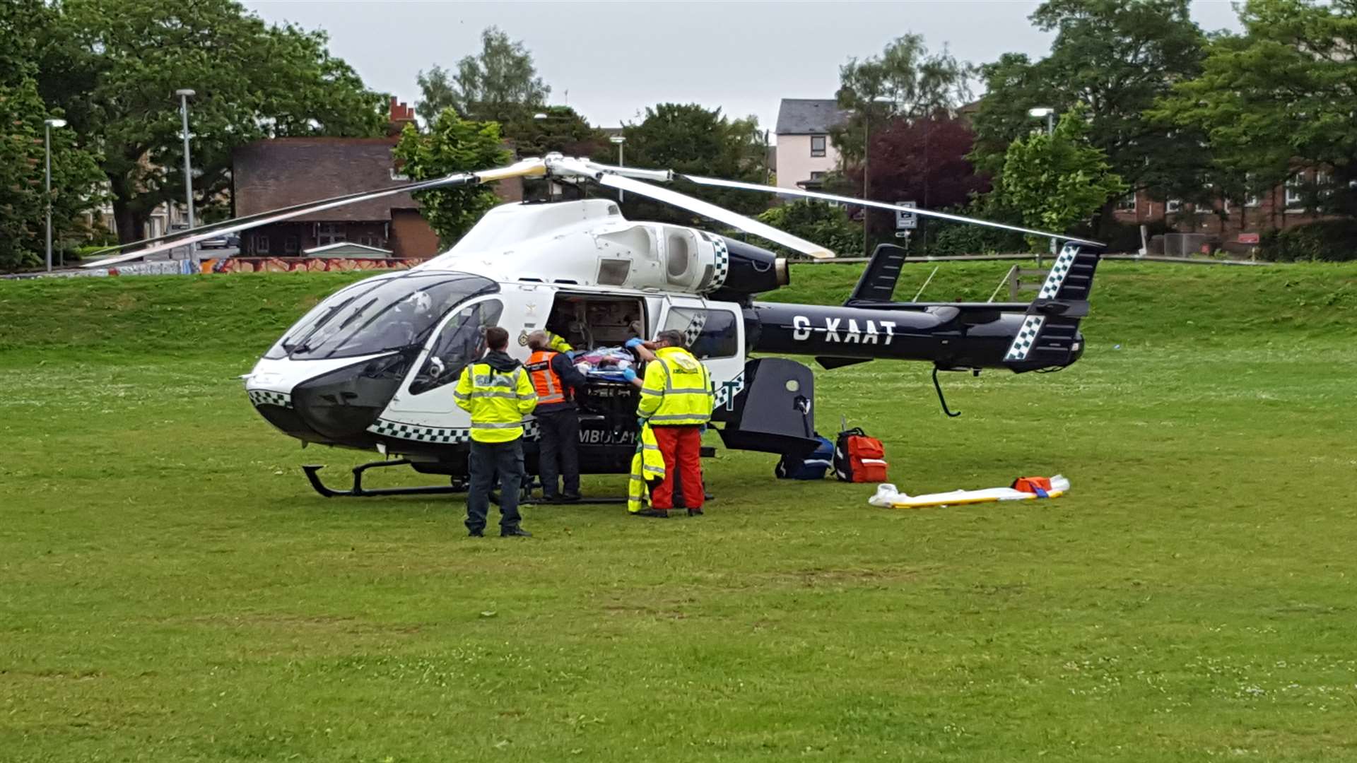
[[[528,334],[528,349],[532,354],[524,369],[537,392],[535,417],[541,433],[537,456],[541,497],[548,501],[578,501],[579,455],[575,448],[579,443],[579,413],[575,410],[575,395],[588,382],[584,373],[575,371],[570,356],[551,349],[546,331]],[[558,491],[558,474],[565,482],[563,491]]]

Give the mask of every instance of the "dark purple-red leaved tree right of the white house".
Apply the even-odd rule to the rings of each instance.
[[[976,174],[966,157],[973,141],[965,122],[944,114],[889,122],[871,136],[871,198],[915,201],[925,209],[969,202],[989,190],[989,182]],[[862,166],[845,172],[852,187],[862,187]],[[889,213],[870,219],[873,232],[894,228]]]

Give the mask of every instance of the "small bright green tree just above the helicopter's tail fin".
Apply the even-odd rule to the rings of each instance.
[[[1053,133],[1031,133],[1008,145],[999,191],[1022,212],[1029,228],[1064,232],[1125,193],[1126,183],[1113,172],[1107,155],[1088,144],[1088,130],[1080,106],[1065,111]],[[1033,251],[1045,246],[1035,236],[1027,243]]]

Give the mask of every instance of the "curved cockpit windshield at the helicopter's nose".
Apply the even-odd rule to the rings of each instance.
[[[410,273],[354,284],[308,312],[270,356],[319,360],[423,345],[449,310],[495,291],[494,281],[467,273]]]

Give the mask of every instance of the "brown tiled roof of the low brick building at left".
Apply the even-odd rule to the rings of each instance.
[[[404,185],[392,179],[398,137],[285,137],[243,145],[232,155],[236,215]],[[392,209],[417,209],[408,193],[294,217],[299,223],[384,223]]]

